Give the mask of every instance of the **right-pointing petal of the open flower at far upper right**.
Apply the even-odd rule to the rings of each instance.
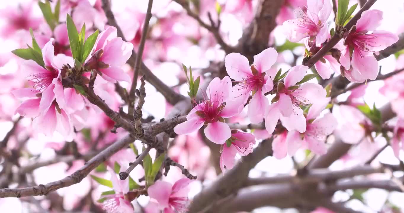
[[[377,30],[373,31],[373,33],[370,35],[374,35],[376,38],[369,39],[367,42],[369,42],[371,45],[368,45],[367,47],[369,50],[374,52],[384,50],[388,46],[391,46],[391,44],[398,41],[398,36],[394,33],[390,33],[389,31]]]

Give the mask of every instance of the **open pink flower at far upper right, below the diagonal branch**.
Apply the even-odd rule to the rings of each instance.
[[[363,82],[366,79],[374,80],[379,73],[379,63],[373,53],[398,41],[396,34],[388,31],[378,31],[383,12],[380,10],[367,10],[356,23],[356,30],[345,38],[345,49],[341,52],[339,61],[345,68],[345,76],[352,82]],[[369,33],[372,31],[372,33]]]

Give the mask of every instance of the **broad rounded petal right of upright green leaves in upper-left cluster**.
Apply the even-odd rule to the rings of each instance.
[[[105,45],[100,60],[110,67],[120,67],[128,61],[132,50],[132,43],[124,42],[122,38],[114,38]]]

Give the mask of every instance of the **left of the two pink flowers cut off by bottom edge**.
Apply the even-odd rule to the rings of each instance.
[[[111,181],[115,194],[101,196],[107,198],[102,208],[107,213],[133,213],[133,206],[126,196],[129,192],[129,178],[126,180],[118,180],[116,173],[111,168],[108,167],[108,171],[112,175]]]

